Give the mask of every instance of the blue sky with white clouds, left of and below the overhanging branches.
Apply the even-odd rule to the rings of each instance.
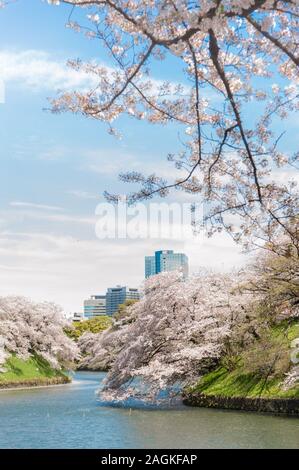
[[[65,28],[69,11],[41,0],[0,10],[0,294],[78,311],[85,297],[108,286],[138,286],[144,255],[160,248],[186,251],[194,271],[240,266],[246,259],[226,236],[201,244],[97,239],[95,207],[103,191],[126,190],[119,171],[173,172],[165,157],[176,150],[178,129],[122,118],[119,141],[102,123],[44,110],[58,89],[84,86],[85,78],[66,68],[68,59],[109,65],[99,43]],[[176,59],[153,64],[153,76],[184,81]]]

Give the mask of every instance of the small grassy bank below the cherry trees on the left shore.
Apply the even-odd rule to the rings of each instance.
[[[36,387],[70,382],[62,371],[52,369],[47,361],[32,356],[26,361],[11,356],[0,372],[0,389],[13,387]]]

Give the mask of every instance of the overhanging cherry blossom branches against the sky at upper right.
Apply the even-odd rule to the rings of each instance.
[[[172,188],[206,203],[209,233],[226,229],[235,240],[275,239],[280,233],[298,249],[298,190],[281,183],[276,169],[298,153],[283,153],[284,131],[273,121],[298,109],[298,0],[48,0],[68,4],[67,26],[101,41],[114,68],[70,61],[98,80],[88,92],[63,93],[53,111],[105,121],[127,114],[150,123],[175,122],[183,146],[168,155],[182,176],[129,171],[121,180],[140,188],[131,202]],[[87,24],[76,20],[86,11]],[[155,61],[177,58],[187,84],[159,82]],[[280,126],[282,127],[282,126]],[[118,195],[106,192],[108,200]],[[241,219],[238,228],[233,221]]]

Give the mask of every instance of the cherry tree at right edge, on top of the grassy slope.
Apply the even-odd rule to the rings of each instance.
[[[259,364],[268,377],[275,370],[287,369],[282,388],[292,388],[299,383],[299,367],[298,359],[294,360],[296,354],[293,357],[289,347],[288,333],[299,318],[299,257],[288,238],[279,239],[279,256],[276,250],[260,254],[248,267],[240,288],[252,293],[257,303],[252,310],[258,312],[258,317],[252,320],[251,328],[254,328],[259,340],[257,347],[255,346],[256,358],[259,358],[255,360],[254,354],[249,352],[252,369],[256,371]],[[283,336],[279,339],[273,338],[270,331],[270,327],[277,324],[281,325],[283,331]],[[248,324],[240,325],[238,333],[242,336],[240,330],[248,331]],[[298,345],[299,339],[295,338],[295,342]]]

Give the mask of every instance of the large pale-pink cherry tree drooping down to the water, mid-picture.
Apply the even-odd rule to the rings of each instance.
[[[203,273],[184,281],[171,272],[149,278],[125,319],[94,341],[86,337],[94,366],[110,359],[101,397],[155,400],[215,367],[243,315],[240,296],[232,291],[228,275]]]

